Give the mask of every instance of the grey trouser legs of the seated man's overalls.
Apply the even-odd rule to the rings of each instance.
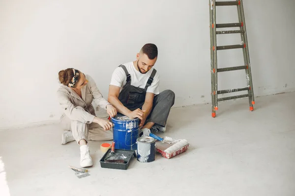
[[[165,90],[161,92],[159,95],[156,95],[153,100],[152,110],[148,115],[146,123],[151,122],[155,123],[155,125],[165,126],[171,107],[174,105],[175,101],[175,93],[171,90]],[[140,109],[142,109],[144,103],[140,105]],[[138,108],[132,107],[132,105],[127,105],[127,108],[131,111],[136,110]]]

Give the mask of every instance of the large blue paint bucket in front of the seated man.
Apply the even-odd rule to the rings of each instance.
[[[139,119],[126,116],[112,118],[113,137],[116,149],[136,150],[139,132]]]

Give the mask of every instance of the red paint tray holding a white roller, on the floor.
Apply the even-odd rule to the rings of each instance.
[[[163,138],[165,140],[165,137]],[[167,140],[169,140],[170,138],[167,137]],[[176,142],[177,143],[177,142]],[[165,150],[168,147],[171,147],[172,145],[176,144],[176,143],[172,143],[172,144],[167,144],[167,143],[162,143],[160,141],[156,141],[156,150],[162,154],[163,157],[165,157],[166,159],[170,159],[172,157],[177,156],[178,154],[181,154],[182,152],[185,152],[188,149],[189,144],[179,147],[177,150],[175,150],[174,152],[168,153],[165,152]]]

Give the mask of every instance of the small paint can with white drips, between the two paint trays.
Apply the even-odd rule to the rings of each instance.
[[[152,162],[155,160],[156,140],[152,137],[143,136],[137,139],[137,160],[139,162]]]

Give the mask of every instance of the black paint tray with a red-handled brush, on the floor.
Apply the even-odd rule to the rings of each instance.
[[[115,154],[108,158],[108,156],[111,155],[111,149],[108,149],[108,151],[103,155],[103,157],[100,159],[100,166],[102,168],[109,168],[109,169],[118,169],[118,170],[127,170],[130,160],[132,156],[136,157],[136,153],[134,150],[123,150],[123,149],[115,149]],[[108,160],[124,160],[124,163],[110,163],[105,162],[105,158],[108,158]]]

